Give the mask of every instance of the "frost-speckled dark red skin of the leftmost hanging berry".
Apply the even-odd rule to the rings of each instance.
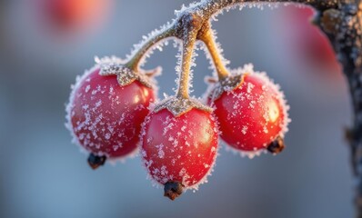
[[[101,76],[95,70],[80,82],[71,104],[71,124],[79,144],[110,158],[132,153],[154,99],[153,90],[138,81],[121,87],[116,75]]]

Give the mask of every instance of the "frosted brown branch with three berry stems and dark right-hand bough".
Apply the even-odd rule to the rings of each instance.
[[[178,80],[177,97],[187,99],[192,54],[196,40],[202,40],[216,68],[219,78],[226,76],[226,66],[212,35],[205,27],[216,15],[244,6],[263,7],[264,5],[310,5],[317,10],[315,24],[324,32],[343,66],[350,88],[354,111],[353,126],[347,131],[351,148],[352,166],[357,177],[356,208],[357,217],[362,218],[362,5],[361,0],[202,0],[183,7],[176,12],[171,25],[146,37],[128,56],[127,67],[137,71],[148,52],[167,37],[176,37],[183,43]],[[203,27],[204,26],[204,27]]]

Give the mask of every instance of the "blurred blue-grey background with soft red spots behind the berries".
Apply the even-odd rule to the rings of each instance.
[[[229,66],[253,63],[282,86],[292,118],[287,149],[249,160],[221,144],[209,183],[171,202],[146,180],[138,157],[91,170],[65,129],[65,103],[95,55],[125,57],[191,1],[82,0],[71,9],[56,2],[0,1],[0,217],[353,216],[347,84],[308,24],[309,9],[218,16],[214,27]],[[164,69],[159,96],[173,94],[175,54],[170,44],[145,66]],[[196,63],[193,94],[200,96],[211,72],[202,51]]]

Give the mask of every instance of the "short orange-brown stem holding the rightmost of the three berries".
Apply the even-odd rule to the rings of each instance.
[[[218,79],[226,79],[229,73],[224,64],[225,58],[222,56],[219,49],[217,48],[214,32],[210,28],[209,22],[207,22],[206,25],[203,26],[202,31],[199,32],[197,38],[206,45],[206,49],[211,59],[211,63],[214,65],[214,69],[216,70]]]

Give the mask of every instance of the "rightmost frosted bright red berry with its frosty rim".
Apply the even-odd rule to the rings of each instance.
[[[287,132],[289,106],[284,94],[265,73],[254,72],[251,64],[214,84],[207,97],[215,107],[222,139],[242,154],[261,154]]]

